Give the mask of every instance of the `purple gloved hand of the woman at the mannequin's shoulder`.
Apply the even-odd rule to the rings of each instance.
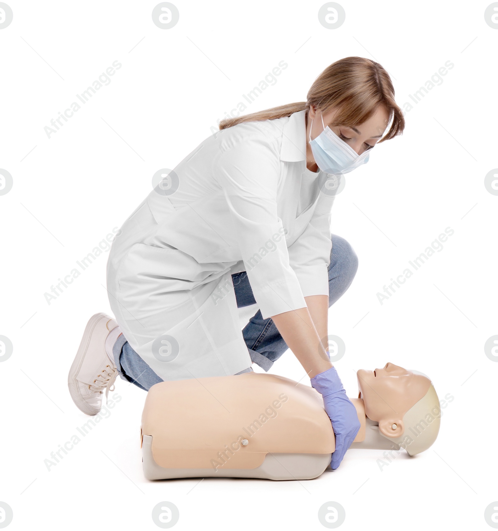
[[[324,398],[325,411],[332,423],[336,449],[332,454],[330,467],[335,470],[359,432],[360,421],[353,402],[346,396],[335,367],[314,376],[311,379],[311,387]]]

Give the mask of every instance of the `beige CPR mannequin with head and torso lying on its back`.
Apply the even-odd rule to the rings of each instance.
[[[439,432],[431,381],[392,363],[357,372],[361,428],[351,448],[415,455]],[[255,372],[156,383],[142,415],[144,475],[312,479],[329,467],[334,432],[321,395]]]

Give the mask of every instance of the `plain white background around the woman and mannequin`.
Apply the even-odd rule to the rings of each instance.
[[[157,529],[151,511],[170,501],[178,529],[322,529],[319,507],[345,508],[342,529],[488,529],[496,492],[496,375],[484,354],[496,324],[498,196],[484,177],[498,167],[496,47],[487,2],[340,2],[344,24],[324,28],[322,2],[175,1],[178,24],[162,30],[158,2],[8,2],[0,30],[2,157],[12,190],[0,196],[0,501],[10,529]],[[138,43],[138,44],[137,44]],[[381,451],[351,450],[335,472],[306,482],[180,479],[148,482],[141,468],[145,392],[116,382],[121,400],[60,463],[44,460],[88,421],[67,390],[67,372],[88,319],[109,312],[107,253],[49,305],[67,275],[151,190],[211,134],[265,75],[289,66],[247,113],[306,99],[329,64],[378,61],[398,105],[411,102],[402,136],[375,148],[347,176],[332,230],[359,256],[329,333],[346,354],[335,365],[351,397],[355,371],[390,361],[428,374],[443,410],[432,448],[379,468]],[[43,127],[113,61],[108,86],[47,138]],[[455,66],[415,104],[445,62]],[[28,154],[29,153],[29,154]],[[451,227],[455,233],[381,305],[377,293]],[[287,352],[272,371],[303,370]],[[303,380],[304,381],[304,380]],[[112,395],[112,393],[111,393]]]

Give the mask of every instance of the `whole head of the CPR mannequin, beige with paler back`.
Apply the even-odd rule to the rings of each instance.
[[[429,448],[439,432],[441,409],[431,380],[386,363],[382,369],[357,371],[365,415],[379,433],[415,455]]]

